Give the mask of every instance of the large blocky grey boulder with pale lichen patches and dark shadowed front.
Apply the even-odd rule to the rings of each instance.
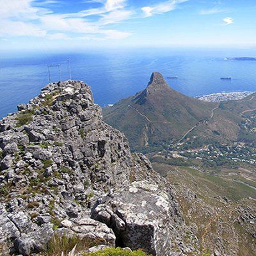
[[[113,228],[117,245],[142,248],[152,255],[171,255],[179,225],[179,207],[155,184],[133,182],[129,188],[97,202],[92,218]]]

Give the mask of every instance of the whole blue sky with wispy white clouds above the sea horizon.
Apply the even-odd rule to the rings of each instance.
[[[0,49],[256,47],[255,0],[0,0]]]

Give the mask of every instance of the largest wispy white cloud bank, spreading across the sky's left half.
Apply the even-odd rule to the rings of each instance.
[[[89,1],[87,1],[89,2]],[[1,0],[0,38],[10,36],[41,36],[51,40],[71,38],[125,38],[131,33],[108,29],[107,26],[130,19],[132,12],[125,10],[126,0],[93,0],[102,6],[77,13],[53,13],[49,4],[60,1]],[[43,3],[43,7],[40,5]],[[40,7],[39,7],[40,6]],[[48,6],[48,8],[46,8]],[[88,20],[96,15],[98,19]]]

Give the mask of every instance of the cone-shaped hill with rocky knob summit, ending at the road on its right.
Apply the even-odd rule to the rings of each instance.
[[[123,131],[132,147],[143,147],[182,138],[216,106],[182,95],[154,72],[143,92],[104,109],[104,120]]]

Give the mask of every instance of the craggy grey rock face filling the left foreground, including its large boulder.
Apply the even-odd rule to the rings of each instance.
[[[3,255],[43,251],[53,235],[172,255],[186,232],[172,189],[159,193],[163,180],[102,122],[89,86],[48,84],[18,109],[0,121]]]

